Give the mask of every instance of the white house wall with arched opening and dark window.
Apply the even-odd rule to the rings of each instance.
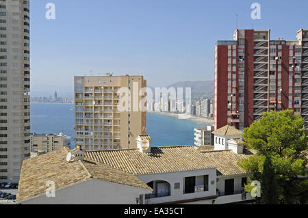
[[[209,191],[184,194],[183,187],[184,187],[185,177],[196,176],[196,185],[203,185],[203,182],[201,182],[201,177],[205,175],[209,175]],[[166,182],[169,182],[170,184],[170,193],[171,193],[170,196],[152,198],[149,200],[149,204],[177,202],[180,200],[191,200],[200,197],[214,196],[216,195],[216,177],[217,177],[216,168],[194,170],[189,172],[175,172],[169,174],[149,174],[149,175],[138,176],[138,178],[140,178],[145,183],[152,182],[155,180],[164,180]],[[211,181],[214,181],[214,185],[211,185]],[[177,182],[180,183],[179,189],[175,189],[175,183]]]

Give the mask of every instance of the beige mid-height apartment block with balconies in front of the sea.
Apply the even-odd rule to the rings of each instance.
[[[121,88],[130,91],[128,96],[118,93]],[[75,146],[137,148],[136,137],[146,133],[146,107],[139,107],[146,102],[142,88],[146,88],[142,76],[75,77]],[[118,108],[121,98],[129,100],[125,110]]]

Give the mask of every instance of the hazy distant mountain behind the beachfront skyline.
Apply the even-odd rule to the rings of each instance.
[[[215,87],[214,81],[183,81],[169,85],[167,88],[170,87],[175,87],[175,89],[177,89],[178,87],[183,87],[184,94],[185,94],[185,88],[191,87],[193,99],[201,97],[214,99],[214,87]],[[153,87],[149,88],[151,88],[154,92]]]

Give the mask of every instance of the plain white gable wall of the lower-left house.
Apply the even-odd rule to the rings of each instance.
[[[21,204],[136,204],[136,198],[149,189],[140,189],[103,180],[87,180],[55,192],[55,197],[41,195]]]

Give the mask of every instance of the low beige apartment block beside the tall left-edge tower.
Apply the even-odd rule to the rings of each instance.
[[[63,133],[47,135],[31,133],[30,145],[31,153],[48,153],[63,147],[70,148],[70,137]]]

